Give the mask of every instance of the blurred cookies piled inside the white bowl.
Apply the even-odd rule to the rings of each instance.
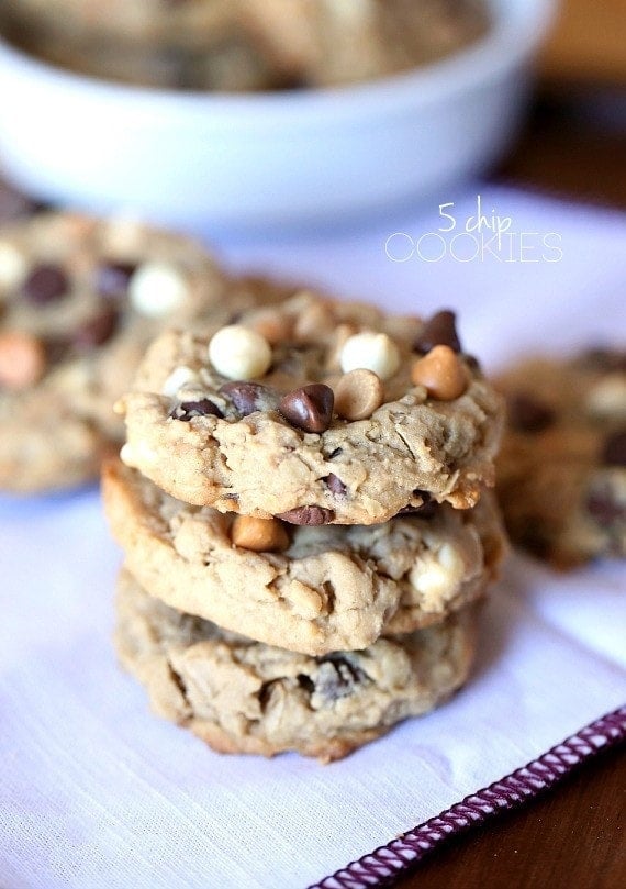
[[[458,52],[485,0],[4,0],[35,56],[144,86],[273,90],[394,74]]]

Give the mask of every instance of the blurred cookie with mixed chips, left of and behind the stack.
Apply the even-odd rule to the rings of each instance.
[[[112,404],[149,341],[256,303],[237,287],[200,245],[128,221],[43,213],[2,229],[0,489],[94,478],[123,438]]]

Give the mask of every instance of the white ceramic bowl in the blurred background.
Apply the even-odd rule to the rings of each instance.
[[[554,0],[493,0],[494,24],[425,68],[333,90],[175,92],[54,68],[0,41],[0,163],[37,198],[198,229],[371,213],[501,155]]]

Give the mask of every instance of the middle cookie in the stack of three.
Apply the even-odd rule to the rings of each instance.
[[[504,548],[493,500],[380,525],[288,525],[190,507],[119,462],[103,496],[126,565],[168,605],[322,655],[443,621],[481,597]]]

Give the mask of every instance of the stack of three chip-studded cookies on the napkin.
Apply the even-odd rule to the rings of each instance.
[[[454,314],[299,292],[146,353],[105,508],[122,663],[222,752],[339,758],[466,680],[502,402]]]

